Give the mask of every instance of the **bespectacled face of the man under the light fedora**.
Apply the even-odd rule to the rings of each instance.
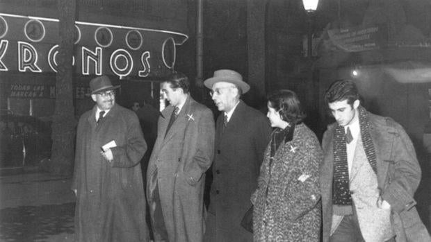
[[[238,90],[232,83],[219,82],[213,85],[210,94],[219,111],[229,112],[236,105]]]

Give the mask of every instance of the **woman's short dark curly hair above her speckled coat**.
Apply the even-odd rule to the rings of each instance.
[[[288,123],[301,123],[307,116],[295,92],[278,90],[268,96],[268,106],[279,112],[282,120]]]

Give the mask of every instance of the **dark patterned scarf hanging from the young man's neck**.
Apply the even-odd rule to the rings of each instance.
[[[370,123],[368,112],[359,106],[359,126],[361,129],[362,144],[368,162],[377,174],[377,158],[375,148],[370,134]],[[352,205],[352,197],[349,189],[349,172],[347,163],[347,148],[345,144],[345,131],[343,126],[336,126],[334,131],[334,184],[332,203],[334,205]]]

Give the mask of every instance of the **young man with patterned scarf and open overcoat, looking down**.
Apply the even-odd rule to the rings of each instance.
[[[405,130],[367,112],[351,80],[337,80],[325,103],[336,123],[323,135],[323,241],[430,241],[413,198],[421,168]]]

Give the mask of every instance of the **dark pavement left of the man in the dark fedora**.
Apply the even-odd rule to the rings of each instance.
[[[0,177],[0,241],[74,241],[71,178],[48,173]]]

